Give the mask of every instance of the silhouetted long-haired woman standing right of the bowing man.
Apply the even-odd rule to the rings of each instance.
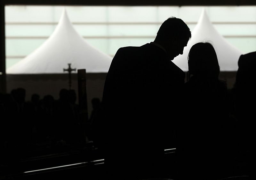
[[[227,163],[227,86],[209,42],[193,45],[188,54],[184,86],[186,115],[178,134],[178,178],[214,179],[225,176]]]

